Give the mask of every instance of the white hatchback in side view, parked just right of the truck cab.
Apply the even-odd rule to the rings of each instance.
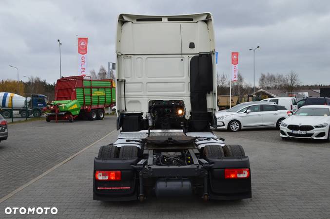
[[[246,102],[215,114],[217,129],[279,128],[291,112],[273,102]]]

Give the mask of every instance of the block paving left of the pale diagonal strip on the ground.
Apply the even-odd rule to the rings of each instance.
[[[104,120],[9,124],[0,143],[0,198],[115,129],[116,116]]]

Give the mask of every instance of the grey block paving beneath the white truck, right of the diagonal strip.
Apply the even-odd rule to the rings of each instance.
[[[72,129],[76,129],[74,125],[79,124],[72,124]],[[99,146],[116,139],[114,132],[2,202],[0,218],[329,218],[330,143],[286,142],[272,129],[215,133],[228,144],[244,146],[251,161],[252,199],[206,203],[199,198],[149,198],[144,203],[93,201],[93,158]],[[5,207],[14,206],[57,207],[58,214],[4,214]]]

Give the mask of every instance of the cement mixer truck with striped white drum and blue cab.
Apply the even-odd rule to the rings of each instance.
[[[47,105],[47,98],[42,94],[32,94],[32,97],[23,97],[15,93],[0,92],[0,113],[5,118],[11,118],[13,111],[19,111],[23,118],[33,115],[41,116],[41,109]]]

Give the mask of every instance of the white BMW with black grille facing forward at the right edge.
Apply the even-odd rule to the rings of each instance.
[[[329,124],[330,106],[303,106],[290,118],[282,121],[280,136],[284,140],[289,138],[313,138],[330,141]]]

